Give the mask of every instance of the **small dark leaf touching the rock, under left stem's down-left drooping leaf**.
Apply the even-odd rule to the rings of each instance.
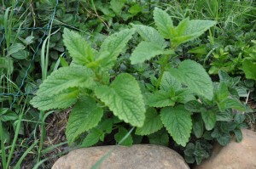
[[[97,128],[93,128],[82,142],[83,147],[90,147],[100,141],[103,132]]]

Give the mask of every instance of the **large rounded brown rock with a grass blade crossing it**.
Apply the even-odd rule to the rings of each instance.
[[[113,145],[75,149],[56,161],[52,169],[90,169],[112,149],[100,169],[189,169],[182,156],[159,145]]]

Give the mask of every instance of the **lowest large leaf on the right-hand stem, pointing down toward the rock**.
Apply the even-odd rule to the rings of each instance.
[[[183,147],[189,142],[192,129],[191,115],[183,105],[166,107],[160,112],[161,121],[177,144]]]

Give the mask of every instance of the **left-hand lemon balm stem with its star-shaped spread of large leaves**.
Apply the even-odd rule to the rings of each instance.
[[[120,120],[132,126],[143,126],[146,110],[136,79],[123,73],[109,85],[108,70],[133,34],[134,30],[119,31],[108,37],[96,51],[79,34],[64,30],[64,43],[73,63],[55,70],[40,86],[38,96],[31,103],[40,110],[65,109],[74,104],[67,124],[69,143],[96,127],[105,106]]]

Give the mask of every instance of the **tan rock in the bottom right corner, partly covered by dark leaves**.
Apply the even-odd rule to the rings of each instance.
[[[256,132],[242,130],[241,143],[216,145],[212,156],[195,169],[253,169],[256,168]]]

